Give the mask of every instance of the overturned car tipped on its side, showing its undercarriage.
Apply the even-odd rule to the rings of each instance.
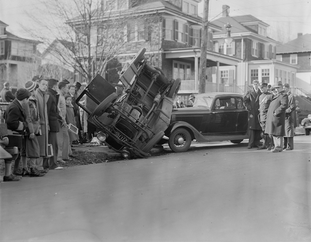
[[[76,100],[89,114],[88,121],[100,130],[97,138],[125,158],[150,156],[169,126],[181,82],[151,66],[145,51],[142,48],[121,71],[121,91],[97,75]],[[82,97],[86,106],[79,103]]]

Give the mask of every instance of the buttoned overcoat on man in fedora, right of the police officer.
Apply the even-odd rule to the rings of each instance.
[[[286,92],[277,93],[268,109],[265,133],[277,136],[285,135],[285,111],[287,106],[288,96]]]

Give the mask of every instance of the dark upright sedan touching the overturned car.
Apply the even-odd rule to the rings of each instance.
[[[244,95],[237,93],[203,93],[196,96],[193,107],[173,109],[171,123],[165,130],[174,152],[187,151],[192,140],[227,141],[237,144],[248,139],[248,111]]]

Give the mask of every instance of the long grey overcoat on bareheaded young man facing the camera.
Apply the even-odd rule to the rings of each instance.
[[[38,89],[38,93],[36,95],[37,99],[37,108],[39,111],[40,117],[40,127],[41,127],[41,136],[37,137],[40,149],[40,156],[47,156],[48,150],[48,133],[49,133],[49,120],[47,113],[47,102],[49,99],[49,95],[45,91],[41,91]]]

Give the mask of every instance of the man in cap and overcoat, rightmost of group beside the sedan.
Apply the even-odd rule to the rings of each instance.
[[[283,89],[288,95],[288,107],[285,114],[284,150],[291,151],[294,149],[294,117],[296,114],[296,99],[290,92],[290,85],[288,83],[284,83]]]

